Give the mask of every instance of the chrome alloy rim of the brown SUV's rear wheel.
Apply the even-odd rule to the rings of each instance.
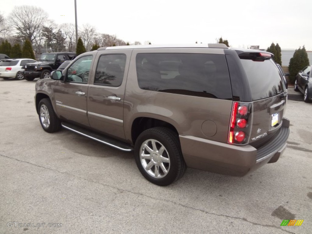
[[[154,178],[165,177],[170,169],[167,149],[159,141],[148,139],[140,148],[140,159],[144,170]]]

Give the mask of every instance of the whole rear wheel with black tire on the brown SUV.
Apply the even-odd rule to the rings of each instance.
[[[142,132],[135,142],[134,157],[142,175],[159,186],[177,181],[186,170],[178,134],[168,128]]]

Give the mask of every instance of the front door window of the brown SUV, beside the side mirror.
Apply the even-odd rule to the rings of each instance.
[[[92,55],[76,60],[67,70],[66,81],[87,83],[92,63]]]

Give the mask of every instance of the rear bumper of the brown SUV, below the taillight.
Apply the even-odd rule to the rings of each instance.
[[[284,124],[285,123],[285,124]],[[289,120],[268,144],[259,149],[251,145],[232,145],[194,136],[179,135],[188,167],[232,176],[244,176],[266,163],[276,162],[287,146]]]

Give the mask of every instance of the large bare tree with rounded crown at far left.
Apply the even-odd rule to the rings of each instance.
[[[41,39],[41,30],[47,13],[35,6],[17,6],[13,9],[8,22],[17,30],[19,36],[28,38],[38,44]]]

